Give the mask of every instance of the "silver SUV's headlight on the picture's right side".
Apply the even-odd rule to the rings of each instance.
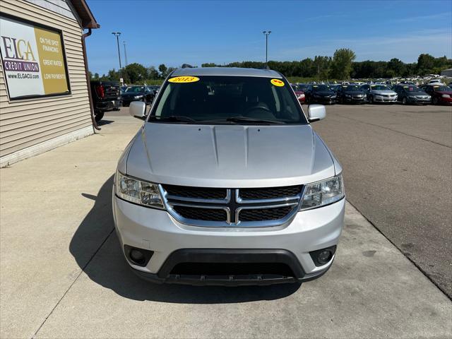
[[[304,190],[300,210],[308,210],[340,201],[345,196],[342,174],[308,184]]]

